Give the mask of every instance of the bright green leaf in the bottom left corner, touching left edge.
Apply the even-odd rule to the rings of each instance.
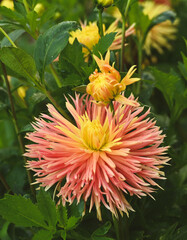
[[[0,215],[17,226],[48,228],[38,207],[22,196],[5,195],[0,200]]]

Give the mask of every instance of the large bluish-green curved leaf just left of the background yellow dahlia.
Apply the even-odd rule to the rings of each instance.
[[[45,67],[52,63],[65,48],[69,40],[69,31],[74,30],[76,27],[76,22],[61,22],[51,27],[38,38],[34,51],[34,59],[42,79]]]

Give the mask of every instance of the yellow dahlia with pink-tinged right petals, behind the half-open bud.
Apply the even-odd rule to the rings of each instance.
[[[114,21],[106,30],[105,25],[103,25],[104,35],[109,34],[111,32],[117,32],[114,42],[110,46],[110,50],[117,50],[121,48],[122,42],[122,30],[118,28],[118,20]],[[125,36],[128,37],[129,35],[134,33],[133,25],[130,26],[126,32]],[[99,28],[96,22],[90,22],[88,25],[81,23],[81,29],[76,31],[72,31],[70,33],[69,42],[73,44],[74,40],[77,40],[86,47],[83,47],[82,51],[84,56],[87,57],[92,51],[93,46],[99,42],[100,35],[99,35]],[[89,51],[90,50],[90,51]]]

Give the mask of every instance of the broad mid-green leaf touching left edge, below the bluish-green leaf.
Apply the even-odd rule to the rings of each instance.
[[[11,70],[33,84],[36,75],[34,59],[25,51],[14,47],[0,49],[0,60]]]

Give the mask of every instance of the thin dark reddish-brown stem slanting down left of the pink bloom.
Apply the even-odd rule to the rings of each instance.
[[[6,86],[7,86],[7,91],[8,91],[9,101],[10,101],[10,107],[11,107],[11,112],[12,112],[13,123],[14,123],[16,134],[17,134],[17,138],[18,138],[21,154],[23,155],[25,153],[25,149],[24,149],[24,144],[23,144],[23,141],[22,141],[22,137],[19,134],[18,121],[17,121],[16,111],[15,111],[15,107],[14,107],[14,101],[13,101],[11,90],[10,90],[10,84],[9,84],[8,77],[7,77],[6,67],[5,67],[5,65],[2,62],[1,62],[1,65],[2,65],[2,70],[3,70],[4,80],[5,80],[5,83],[6,83]],[[25,156],[23,156],[23,160],[24,160],[24,162],[26,164],[27,163],[27,159],[26,159]],[[31,185],[31,183],[33,181],[32,181],[31,172],[29,170],[27,170],[27,176],[28,176],[28,180],[29,180],[29,183],[30,183],[31,193],[32,193],[32,195],[33,195],[33,197],[35,199],[36,198],[36,193],[35,193],[35,189],[34,189],[33,185]]]

